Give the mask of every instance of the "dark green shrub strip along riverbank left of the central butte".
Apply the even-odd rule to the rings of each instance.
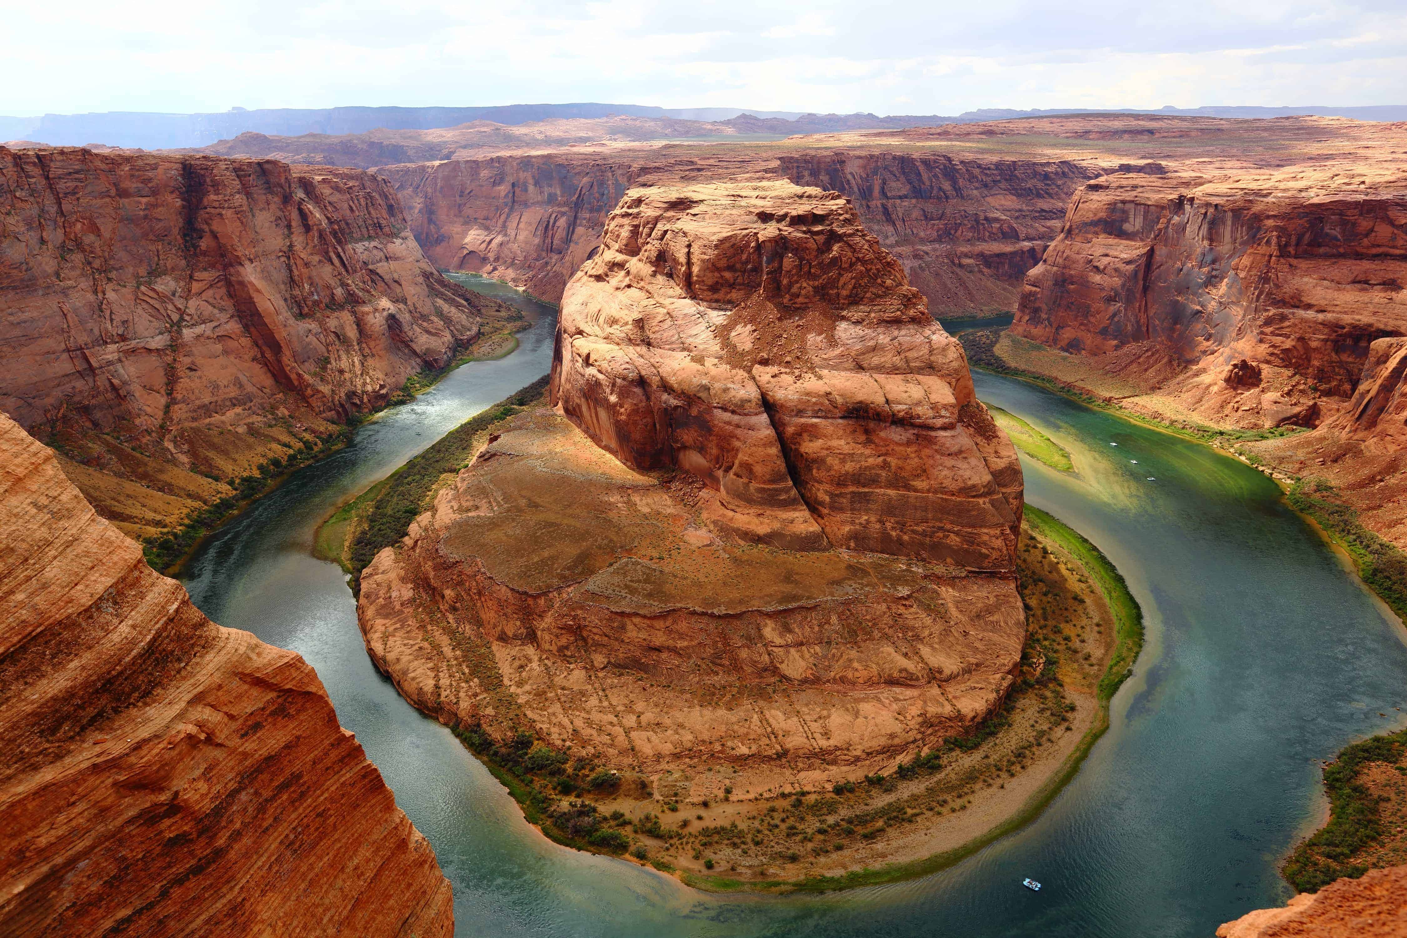
[[[353,584],[381,548],[405,537],[411,522],[425,510],[426,498],[440,477],[457,473],[469,464],[474,456],[474,436],[529,406],[546,390],[547,375],[543,375],[483,413],[464,420],[386,480],[386,487],[374,502],[362,506],[364,523],[346,551]]]

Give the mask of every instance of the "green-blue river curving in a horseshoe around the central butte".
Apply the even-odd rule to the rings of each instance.
[[[1027,499],[1102,547],[1147,619],[1110,730],[1069,786],[1030,825],[948,870],[826,896],[712,896],[556,847],[377,674],[346,577],[311,555],[314,527],[339,502],[547,371],[556,314],[536,309],[518,352],[467,364],[364,425],[186,568],[211,619],[317,668],[342,724],[433,844],[460,935],[1209,938],[1289,897],[1275,868],[1321,818],[1316,759],[1404,723],[1400,626],[1272,481],[1204,446],[978,373],[982,399],[1071,450],[1072,474],[1023,460]],[[1045,887],[1031,893],[1023,876]]]

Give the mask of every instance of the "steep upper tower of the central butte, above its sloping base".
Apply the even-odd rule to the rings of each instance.
[[[720,532],[1014,567],[1016,453],[836,193],[628,193],[563,297],[552,387],[626,465],[702,478]]]

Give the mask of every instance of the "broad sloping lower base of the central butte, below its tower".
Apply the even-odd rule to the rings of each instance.
[[[367,651],[447,724],[526,730],[694,800],[888,771],[1000,705],[1026,637],[1014,578],[739,543],[708,496],[521,413],[363,572]]]

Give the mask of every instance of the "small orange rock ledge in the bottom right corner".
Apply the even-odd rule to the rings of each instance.
[[[1407,935],[1407,866],[1375,869],[1258,908],[1217,928],[1217,938],[1399,938]]]

